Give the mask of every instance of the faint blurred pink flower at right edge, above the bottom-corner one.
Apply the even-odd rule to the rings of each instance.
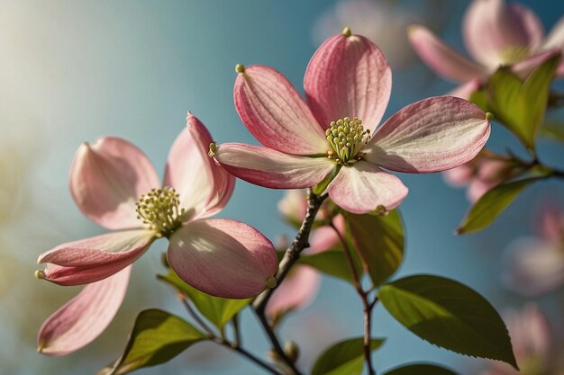
[[[536,220],[539,237],[522,237],[507,247],[504,281],[529,296],[564,283],[564,214],[555,207],[541,210]]]

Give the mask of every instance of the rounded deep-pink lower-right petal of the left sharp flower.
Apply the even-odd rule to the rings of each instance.
[[[189,285],[228,299],[265,290],[277,272],[272,243],[257,229],[230,219],[203,219],[169,239],[168,263]]]

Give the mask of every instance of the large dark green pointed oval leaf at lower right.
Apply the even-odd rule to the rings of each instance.
[[[467,286],[416,275],[384,285],[378,298],[398,322],[431,344],[503,361],[518,370],[507,328],[496,309]]]

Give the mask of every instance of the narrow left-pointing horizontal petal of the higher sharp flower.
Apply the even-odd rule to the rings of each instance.
[[[268,147],[224,143],[215,159],[241,180],[273,189],[300,189],[319,183],[335,167],[327,157],[287,155]]]

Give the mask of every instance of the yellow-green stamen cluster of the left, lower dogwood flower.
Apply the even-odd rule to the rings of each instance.
[[[135,203],[137,219],[143,220],[143,224],[159,232],[160,236],[170,236],[180,227],[180,217],[185,213],[185,209],[180,209],[178,197],[177,191],[168,186],[151,189]]]

